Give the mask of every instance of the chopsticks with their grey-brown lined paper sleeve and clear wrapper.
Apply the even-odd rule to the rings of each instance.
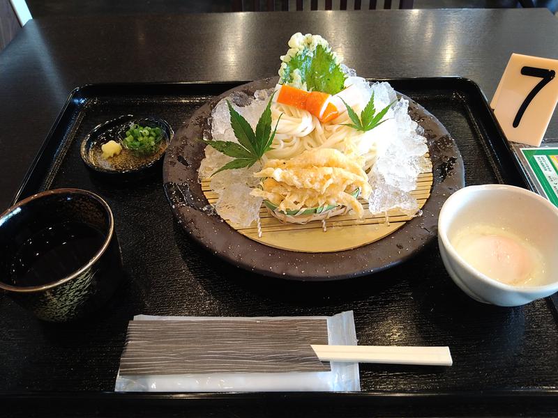
[[[358,391],[358,362],[452,364],[447,347],[356,346],[352,311],[331,317],[134,319],[116,391]]]

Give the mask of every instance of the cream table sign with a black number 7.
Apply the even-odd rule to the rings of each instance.
[[[490,107],[508,141],[541,145],[558,102],[558,60],[511,54]]]

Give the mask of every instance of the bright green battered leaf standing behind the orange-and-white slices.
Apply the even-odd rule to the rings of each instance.
[[[345,88],[345,78],[341,67],[335,62],[331,49],[317,45],[314,51],[308,47],[293,56],[282,70],[281,84],[292,84],[295,70],[299,70],[301,83],[306,83],[308,91],[322,91],[334,95]]]

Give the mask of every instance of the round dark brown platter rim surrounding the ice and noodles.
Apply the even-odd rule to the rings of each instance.
[[[213,98],[195,111],[171,141],[163,162],[163,182],[174,215],[188,235],[230,263],[266,276],[324,281],[379,272],[405,261],[437,235],[439,210],[447,197],[465,185],[461,155],[445,127],[409,99],[409,114],[424,129],[432,161],[432,189],[423,215],[369,245],[338,252],[304,253],[269,247],[235,231],[209,206],[197,180],[204,157],[202,137],[211,137],[211,109],[241,91],[252,95],[273,88],[277,77],[243,84]],[[405,96],[403,96],[405,97]]]

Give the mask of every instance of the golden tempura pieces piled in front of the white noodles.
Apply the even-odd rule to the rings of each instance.
[[[250,194],[282,211],[342,205],[363,217],[363,207],[351,193],[360,189],[361,196],[368,198],[371,192],[359,159],[333,148],[312,148],[291,160],[269,160],[254,176],[263,179],[262,188]]]

